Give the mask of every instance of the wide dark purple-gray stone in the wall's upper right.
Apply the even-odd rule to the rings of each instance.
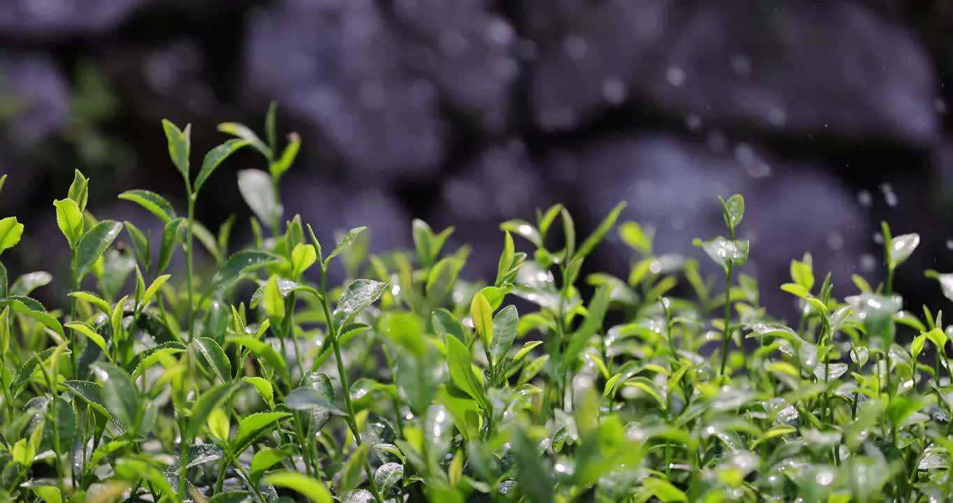
[[[856,1],[528,5],[540,52],[531,102],[544,130],[576,130],[629,100],[693,129],[921,148],[938,135],[922,45]]]

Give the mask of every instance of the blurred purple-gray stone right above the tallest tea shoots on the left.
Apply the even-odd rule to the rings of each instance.
[[[314,128],[362,182],[432,175],[446,126],[372,0],[288,0],[251,16],[253,93]]]

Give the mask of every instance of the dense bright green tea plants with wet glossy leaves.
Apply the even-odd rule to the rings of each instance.
[[[953,490],[953,327],[893,291],[916,234],[884,224],[876,287],[854,276],[835,294],[810,255],[793,260],[790,324],[742,272],[740,195],[720,200],[728,237],[695,242],[723,288],[694,259],[657,253],[650,229],[617,228],[621,204],[583,239],[558,205],[502,223],[496,277],[472,283],[458,277],[470,250],[446,250],[453,228],[415,220],[413,251],[369,255],[364,228],[322,246],[285,220],[279,181],[300,140],[279,145],[274,116],[264,140],[221,125],[234,138],[197,170],[191,128],[163,122],[185,216],[152,191],[119,195],[160,236],[94,216],[76,171],[51,209],[71,251],[68,310],[30,297],[49,273],[10,281],[0,265],[0,501],[914,502]],[[238,173],[253,242],[231,252],[233,219],[213,232],[195,208],[246,148],[267,170]],[[0,253],[23,232],[0,220]],[[610,232],[632,249],[628,277],[583,277]],[[213,267],[196,269],[199,254]],[[927,275],[953,299],[953,274]]]

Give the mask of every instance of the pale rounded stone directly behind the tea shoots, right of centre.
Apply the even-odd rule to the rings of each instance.
[[[692,240],[726,235],[716,196],[740,192],[746,211],[738,238],[751,241],[741,272],[759,277],[762,295],[774,302],[786,302],[777,286],[789,281],[792,258],[813,253],[817,275],[832,271],[839,286],[852,289],[850,274],[864,273],[855,269],[861,255],[875,251],[865,210],[822,166],[775,160],[744,144],[714,152],[670,135],[618,137],[570,158],[561,162],[586,167],[573,183],[582,201],[579,220],[595,224],[627,201],[623,219],[659,230],[656,253],[697,256],[712,273],[710,259]],[[633,253],[612,234],[596,257],[622,274],[628,264],[619,257]]]

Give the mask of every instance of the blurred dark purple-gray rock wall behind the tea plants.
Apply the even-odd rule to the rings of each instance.
[[[924,233],[912,270],[953,268],[951,80],[945,0],[5,0],[0,206],[56,239],[50,201],[81,168],[93,211],[149,227],[113,197],[182,203],[159,120],[192,122],[204,151],[276,99],[304,138],[285,206],[322,239],[369,224],[381,250],[411,217],[455,225],[475,276],[500,220],[559,201],[590,227],[624,199],[658,251],[694,254],[715,196],[740,191],[746,271],[777,284],[811,251],[843,294],[877,275],[881,219]],[[230,184],[257,161],[216,173],[199,215],[247,216]],[[628,266],[618,239],[590,264]]]

